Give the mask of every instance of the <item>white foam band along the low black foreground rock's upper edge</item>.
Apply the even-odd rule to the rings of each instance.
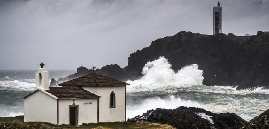
[[[183,100],[180,97],[175,97],[172,95],[166,99],[161,99],[160,97],[153,97],[143,100],[141,104],[127,105],[127,117],[133,118],[137,115],[142,115],[142,113],[146,113],[147,110],[151,109],[175,109],[179,106],[199,107],[204,108],[205,110],[209,110],[206,106],[203,106],[196,101]]]

